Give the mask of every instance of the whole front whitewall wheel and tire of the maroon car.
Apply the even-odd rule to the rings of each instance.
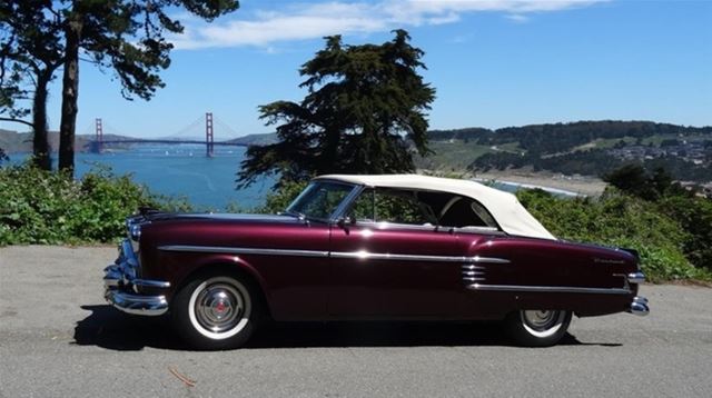
[[[190,280],[178,291],[172,307],[176,330],[197,349],[243,346],[261,312],[249,283],[219,272]]]

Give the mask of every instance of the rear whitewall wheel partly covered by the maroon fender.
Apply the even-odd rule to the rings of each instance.
[[[571,311],[520,310],[504,320],[507,335],[521,346],[550,347],[557,344],[571,324]]]

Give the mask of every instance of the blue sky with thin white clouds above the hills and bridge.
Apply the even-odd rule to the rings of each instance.
[[[110,72],[82,64],[78,132],[102,118],[108,132],[168,136],[206,111],[238,135],[268,132],[257,107],[304,97],[297,69],[323,36],[383,42],[395,28],[426,53],[423,74],[437,90],[434,129],[599,119],[712,125],[712,1],[241,4],[211,24],[184,19],[187,33],[162,73],[167,87],[151,101],[123,100]],[[57,129],[59,84],[51,96]]]

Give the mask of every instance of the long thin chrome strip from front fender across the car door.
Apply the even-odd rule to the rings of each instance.
[[[426,256],[426,255],[398,255],[398,253],[373,253],[368,251],[319,251],[319,250],[291,250],[291,249],[266,249],[266,248],[239,248],[220,246],[187,246],[166,245],[159,246],[164,251],[192,251],[192,252],[216,252],[230,255],[265,255],[265,256],[294,256],[294,257],[333,257],[353,258],[362,260],[394,260],[394,261],[436,261],[436,262],[466,262],[466,263],[510,263],[504,258],[496,257],[464,257],[464,256]]]

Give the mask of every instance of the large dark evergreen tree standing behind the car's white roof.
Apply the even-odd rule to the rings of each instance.
[[[263,175],[303,180],[314,175],[392,173],[414,170],[411,143],[427,155],[426,110],[435,89],[418,69],[424,52],[405,30],[383,44],[347,46],[340,36],[299,70],[308,89],[301,102],[261,106],[261,118],[279,125],[279,142],[251,147],[238,182]]]

